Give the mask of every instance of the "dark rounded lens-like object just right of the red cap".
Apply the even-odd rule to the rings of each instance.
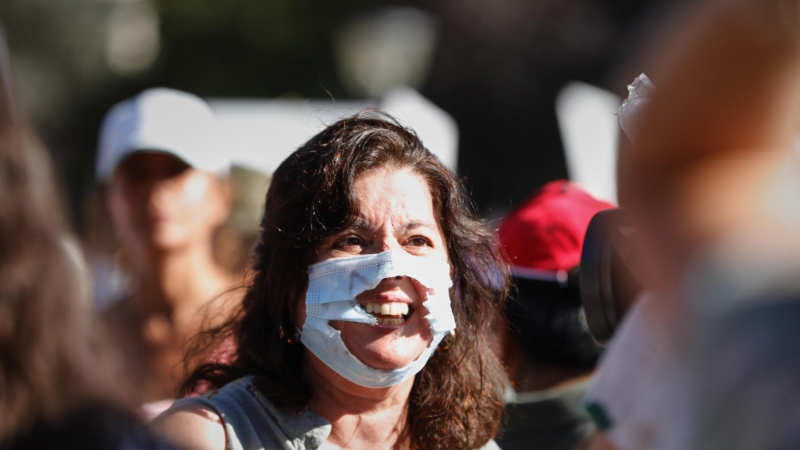
[[[605,345],[642,291],[634,275],[635,230],[623,209],[597,213],[589,222],[580,263],[580,297],[595,340]]]

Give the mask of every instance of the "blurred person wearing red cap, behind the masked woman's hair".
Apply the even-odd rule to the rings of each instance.
[[[578,264],[592,216],[613,207],[557,180],[500,224],[516,285],[498,330],[515,391],[500,448],[569,450],[595,430],[581,397],[601,347],[583,317]]]

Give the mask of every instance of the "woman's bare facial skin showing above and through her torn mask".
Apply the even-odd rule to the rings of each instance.
[[[358,178],[353,186],[358,216],[341,233],[317,247],[315,262],[331,258],[367,255],[389,250],[448,262],[447,248],[433,211],[428,185],[409,169],[381,167]],[[357,301],[378,318],[378,324],[332,321],[341,331],[348,350],[375,369],[405,366],[433,339],[423,288],[408,277],[384,279]],[[300,323],[305,321],[301,302]]]

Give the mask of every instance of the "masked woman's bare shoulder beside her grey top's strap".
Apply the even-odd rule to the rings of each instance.
[[[173,407],[156,417],[153,428],[187,450],[225,450],[225,426],[216,411],[200,406]]]

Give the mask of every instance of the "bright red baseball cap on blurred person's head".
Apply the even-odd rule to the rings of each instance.
[[[571,181],[547,183],[500,224],[498,235],[512,272],[562,281],[555,274],[566,277],[566,272],[580,263],[589,221],[610,208],[615,206],[592,197]]]

